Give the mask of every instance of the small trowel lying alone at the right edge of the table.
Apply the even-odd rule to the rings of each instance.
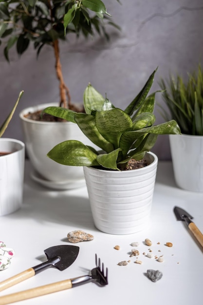
[[[197,228],[197,226],[191,221],[193,217],[188,214],[185,210],[175,207],[174,213],[176,215],[177,220],[184,220],[187,224],[190,231],[194,234],[194,236],[197,238],[201,246],[203,247],[203,234],[202,232]]]

